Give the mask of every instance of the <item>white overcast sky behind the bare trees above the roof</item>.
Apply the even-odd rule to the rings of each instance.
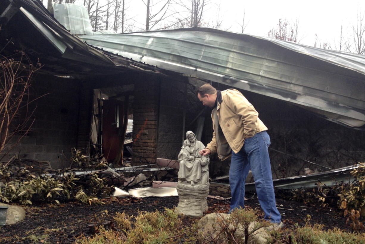
[[[137,21],[135,31],[143,29],[146,7],[142,0],[130,0],[128,5],[127,14],[134,16]],[[276,27],[278,19],[287,19],[289,23],[299,20],[300,43],[313,46],[317,34],[318,42],[330,43],[336,49],[334,46],[338,46],[341,23],[343,36],[350,39],[352,25],[356,25],[357,12],[365,13],[365,0],[210,0],[204,20],[211,22],[218,16],[223,20],[222,29],[240,32],[239,23],[242,22],[244,11],[246,34],[267,36],[269,30]]]

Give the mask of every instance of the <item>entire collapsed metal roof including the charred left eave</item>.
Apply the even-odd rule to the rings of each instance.
[[[4,6],[9,1],[0,3],[1,16],[7,16]],[[53,74],[173,71],[287,101],[364,130],[364,55],[210,28],[77,37],[50,16],[39,0],[12,3],[19,11],[17,22],[11,19],[7,31],[23,35],[23,46],[30,46],[34,57],[43,55]],[[16,31],[19,20],[29,21],[57,51],[49,55],[50,48],[45,51],[37,42],[27,43],[29,33]]]

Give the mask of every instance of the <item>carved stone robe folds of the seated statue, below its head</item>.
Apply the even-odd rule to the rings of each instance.
[[[188,147],[188,149],[187,149]],[[200,156],[199,151],[205,146],[200,141],[195,141],[193,145],[188,145],[180,150],[177,156],[180,162],[180,169],[178,171],[178,178],[181,181],[199,182],[201,180],[202,172],[207,171],[208,165]],[[191,157],[191,160],[186,160],[184,155]]]

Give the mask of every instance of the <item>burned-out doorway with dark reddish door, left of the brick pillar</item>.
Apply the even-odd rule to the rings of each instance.
[[[131,161],[133,88],[94,90],[90,155],[104,157],[113,168]]]

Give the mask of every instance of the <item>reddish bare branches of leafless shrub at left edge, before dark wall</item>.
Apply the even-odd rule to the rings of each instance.
[[[34,122],[29,111],[30,83],[32,75],[39,70],[40,63],[33,65],[21,51],[11,57],[0,55],[0,160],[19,143]],[[16,141],[8,146],[10,140]]]

